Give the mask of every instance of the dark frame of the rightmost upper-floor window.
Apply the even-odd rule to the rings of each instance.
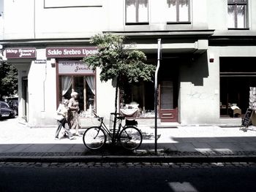
[[[235,18],[234,18],[234,24],[235,24],[235,27],[234,28],[230,28],[227,26],[227,29],[228,30],[248,30],[249,29],[249,7],[248,7],[248,0],[244,0],[244,1],[241,1],[241,0],[227,0],[227,14],[228,14],[228,7],[229,6],[235,6]],[[238,28],[238,9],[237,7],[238,6],[241,6],[241,5],[244,5],[245,6],[245,14],[244,14],[244,28]],[[228,24],[228,23],[227,23]]]

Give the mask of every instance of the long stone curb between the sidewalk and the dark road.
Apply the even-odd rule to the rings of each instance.
[[[0,162],[152,162],[152,163],[211,163],[256,162],[256,155],[183,155],[183,156],[1,156]]]

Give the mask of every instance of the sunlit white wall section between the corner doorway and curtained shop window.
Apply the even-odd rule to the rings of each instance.
[[[37,59],[45,59],[45,49],[37,50]],[[54,125],[56,113],[56,68],[47,64],[31,63],[28,75],[29,125]]]

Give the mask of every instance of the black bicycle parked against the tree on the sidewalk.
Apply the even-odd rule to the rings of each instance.
[[[99,120],[99,126],[92,126],[83,133],[83,144],[90,150],[99,150],[102,148],[108,139],[113,144],[120,143],[126,150],[136,150],[142,143],[141,131],[136,127],[138,125],[135,120],[126,120],[122,126],[122,120],[125,119],[120,113],[110,113],[115,115],[116,123],[114,123],[113,130],[109,129],[103,122],[104,118],[99,117],[94,113]],[[115,126],[118,124],[118,129]],[[129,125],[128,125],[129,124]],[[113,131],[113,132],[112,132]]]

